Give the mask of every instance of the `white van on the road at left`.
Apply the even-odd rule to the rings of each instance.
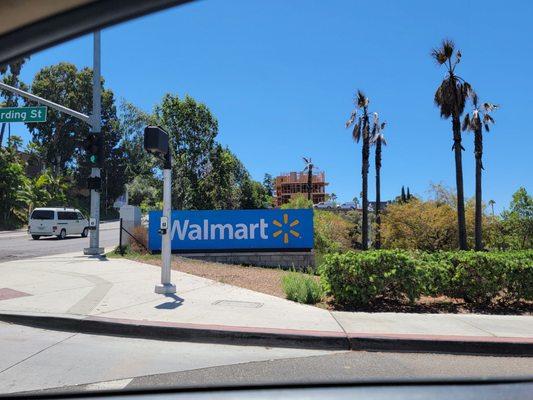
[[[89,222],[75,208],[36,208],[30,215],[28,233],[34,240],[41,236],[57,236],[58,239],[67,235],[87,237]]]

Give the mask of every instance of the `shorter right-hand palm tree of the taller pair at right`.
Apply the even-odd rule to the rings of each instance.
[[[469,130],[474,132],[474,154],[476,157],[476,212],[475,212],[475,249],[476,251],[483,250],[483,210],[482,210],[482,194],[481,194],[481,171],[483,168],[483,127],[485,131],[489,131],[489,124],[494,123],[490,112],[498,108],[496,104],[483,103],[483,106],[478,107],[477,95],[472,96],[472,103],[474,110],[472,117],[466,114],[463,120],[463,131]]]

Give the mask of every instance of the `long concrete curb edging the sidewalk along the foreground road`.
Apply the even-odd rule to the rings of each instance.
[[[56,331],[196,343],[533,357],[533,338],[420,334],[345,334],[342,332],[28,313],[0,313],[0,321]]]

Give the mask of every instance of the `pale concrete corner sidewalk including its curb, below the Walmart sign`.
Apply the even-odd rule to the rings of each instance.
[[[245,344],[533,355],[532,316],[330,312],[158,267],[80,254],[0,263],[0,319],[90,333]]]

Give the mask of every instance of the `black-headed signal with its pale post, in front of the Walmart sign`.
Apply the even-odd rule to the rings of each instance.
[[[158,126],[144,129],[144,149],[163,158],[163,216],[159,221],[161,233],[161,283],[155,286],[159,294],[176,293],[176,285],[170,282],[170,207],[171,207],[171,168],[172,157],[168,143],[168,133]]]

